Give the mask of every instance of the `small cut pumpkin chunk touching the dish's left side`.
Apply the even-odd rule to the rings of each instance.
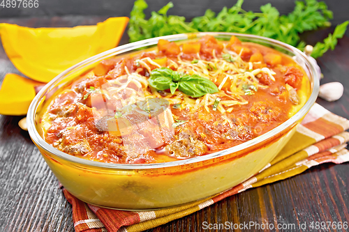
[[[43,83],[8,73],[0,88],[0,114],[27,114],[29,105],[36,95],[35,86],[40,85]]]

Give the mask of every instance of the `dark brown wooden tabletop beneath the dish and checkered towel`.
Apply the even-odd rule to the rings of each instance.
[[[103,20],[105,17],[53,17],[0,22],[39,27],[95,24]],[[318,40],[329,31],[310,33],[307,39]],[[127,36],[124,36],[121,43],[126,42]],[[335,114],[349,118],[349,38],[340,40],[336,49],[327,52],[318,62],[325,75],[321,84],[338,81],[345,88],[339,101],[318,99],[318,103]],[[7,72],[19,73],[0,47],[0,79]],[[0,116],[0,231],[74,231],[71,206],[28,132],[18,127],[21,118]],[[293,178],[231,196],[152,231],[205,231],[203,222],[255,222],[275,227],[276,224],[295,224],[295,230],[272,231],[311,231],[309,228],[300,230],[299,224],[349,222],[348,177],[349,163],[322,164]]]

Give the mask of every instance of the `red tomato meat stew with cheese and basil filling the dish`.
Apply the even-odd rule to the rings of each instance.
[[[101,61],[52,97],[47,143],[98,162],[143,164],[207,155],[258,137],[307,100],[290,56],[212,36]]]

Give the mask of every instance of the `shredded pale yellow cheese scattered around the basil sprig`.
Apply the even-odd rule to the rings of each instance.
[[[241,54],[242,52],[240,52]],[[195,62],[181,59],[183,53],[177,56],[177,62],[169,59],[169,64],[167,68],[175,68],[177,72],[184,72],[188,75],[199,75],[210,79],[212,82],[217,82],[218,78],[221,77],[223,80],[218,86],[219,92],[206,95],[193,99],[190,96],[182,93],[181,91],[175,91],[172,93],[158,93],[155,88],[149,86],[147,77],[144,77],[138,73],[138,71],[130,73],[125,66],[125,71],[127,75],[118,77],[117,79],[109,80],[111,87],[106,88],[109,95],[117,98],[117,93],[123,90],[131,91],[132,94],[130,98],[120,99],[123,107],[126,105],[133,104],[145,98],[164,98],[168,100],[170,104],[179,104],[181,108],[188,108],[190,111],[196,111],[200,107],[205,107],[209,111],[209,106],[214,105],[217,98],[223,99],[218,102],[216,109],[222,114],[225,111],[232,111],[234,105],[246,105],[248,101],[244,98],[246,94],[243,86],[249,85],[254,86],[256,90],[258,88],[267,88],[268,86],[259,83],[258,77],[256,77],[261,72],[265,72],[270,79],[273,81],[274,75],[276,74],[273,70],[269,68],[257,68],[253,70],[253,63],[245,62],[240,57],[240,54],[236,54],[224,47],[223,54],[229,56],[230,60],[225,60],[223,58],[216,57],[216,51],[213,50],[212,56],[214,59],[206,61],[197,54],[197,60]],[[142,66],[151,72],[150,65],[154,65],[156,68],[161,68],[161,65],[151,60],[149,57],[143,59],[138,59],[135,61],[137,65]],[[141,69],[140,69],[141,70]],[[223,86],[230,82],[228,88],[223,90]],[[133,88],[129,87],[133,84]],[[136,86],[138,89],[134,88]],[[119,99],[119,98],[118,98]],[[227,120],[228,121],[228,120]]]

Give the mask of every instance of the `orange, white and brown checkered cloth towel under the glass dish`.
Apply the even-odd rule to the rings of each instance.
[[[345,132],[348,128],[349,121],[346,118],[332,114],[315,104],[292,139],[267,167],[230,190],[184,206],[144,212],[110,210],[91,206],[76,199],[68,191],[63,191],[73,206],[76,232],[144,231],[190,215],[251,187],[295,176],[318,164],[348,162],[349,151],[345,148],[346,142],[349,141],[349,132]]]

